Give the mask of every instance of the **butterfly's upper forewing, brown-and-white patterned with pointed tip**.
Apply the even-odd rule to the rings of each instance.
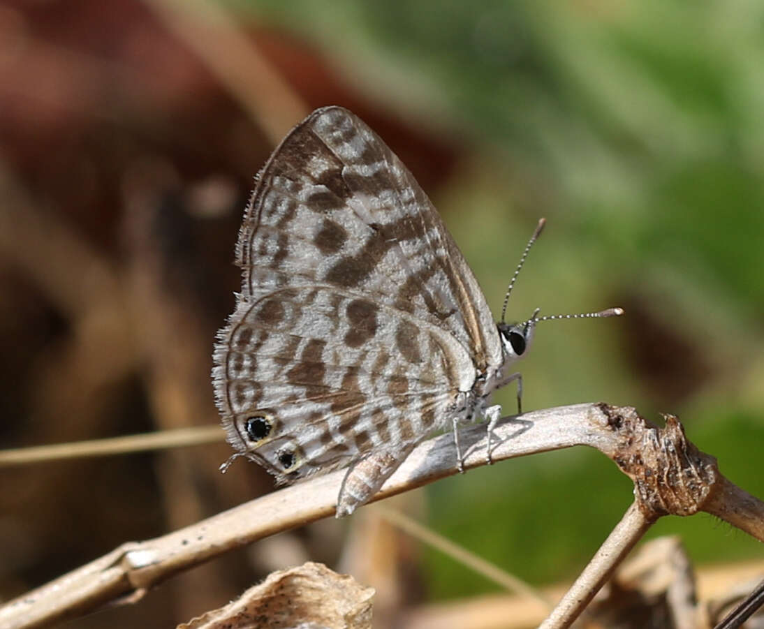
[[[501,362],[490,309],[413,175],[355,115],[314,111],[261,172],[238,241],[245,295],[334,285],[447,330]]]

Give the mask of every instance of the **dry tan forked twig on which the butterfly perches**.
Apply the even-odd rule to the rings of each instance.
[[[486,463],[484,424],[465,428],[465,469]],[[724,478],[713,456],[685,438],[669,416],[664,428],[630,407],[581,404],[533,411],[501,421],[494,462],[585,445],[609,456],[635,484],[635,502],[545,627],[568,627],[652,522],[664,514],[707,511],[764,541],[764,503]],[[419,445],[374,500],[455,473],[451,434]],[[344,470],[309,479],[173,533],[124,544],[92,563],[0,608],[0,627],[40,627],[118,599],[135,601],[174,573],[227,550],[334,514]]]

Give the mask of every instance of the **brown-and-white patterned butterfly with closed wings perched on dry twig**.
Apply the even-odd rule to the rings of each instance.
[[[280,483],[351,466],[338,517],[433,431],[478,417],[490,431],[490,393],[519,379],[508,367],[543,319],[494,322],[419,184],[340,107],[313,111],[270,156],[236,263],[213,371],[228,441]]]

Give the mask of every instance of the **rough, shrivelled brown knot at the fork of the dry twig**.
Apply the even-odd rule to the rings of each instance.
[[[600,405],[607,425],[617,433],[612,458],[634,482],[639,508],[648,518],[692,515],[720,479],[714,456],[698,450],[672,414],[660,428],[632,407]]]

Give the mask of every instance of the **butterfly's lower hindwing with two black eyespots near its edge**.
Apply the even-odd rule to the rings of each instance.
[[[224,334],[228,439],[282,482],[429,434],[452,404],[445,366],[464,360],[442,331],[318,287],[242,300]]]

